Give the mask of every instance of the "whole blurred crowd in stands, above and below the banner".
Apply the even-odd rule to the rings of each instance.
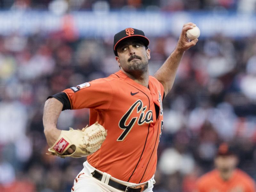
[[[255,0],[0,0],[3,10],[255,12]],[[56,6],[57,5],[57,6]],[[127,26],[130,27],[130,26]],[[180,28],[181,29],[181,28]],[[118,32],[118,31],[116,31]],[[147,36],[147,34],[146,34]],[[112,37],[113,38],[113,37]],[[119,70],[112,38],[36,31],[0,36],[0,191],[69,192],[84,158],[46,155],[46,98]],[[150,37],[150,74],[174,49],[172,34]],[[215,34],[187,51],[163,101],[164,129],[158,148],[154,192],[193,192],[213,168],[218,145],[237,148],[238,167],[256,179],[256,38]],[[81,128],[89,111],[66,110],[58,127]]]

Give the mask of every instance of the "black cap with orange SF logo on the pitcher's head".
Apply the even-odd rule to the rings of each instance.
[[[146,47],[148,47],[149,40],[145,36],[143,31],[141,31],[139,29],[135,29],[135,28],[126,28],[126,29],[118,32],[114,36],[113,50],[114,50],[114,53],[116,56],[117,56],[116,48],[117,48],[118,44],[121,43],[124,39],[131,38],[131,37],[140,40],[142,43],[144,43],[144,45]]]

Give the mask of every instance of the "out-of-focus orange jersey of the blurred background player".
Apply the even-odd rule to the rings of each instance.
[[[206,173],[197,181],[197,192],[255,192],[255,182],[245,172],[236,169],[233,176],[224,181],[218,170]]]

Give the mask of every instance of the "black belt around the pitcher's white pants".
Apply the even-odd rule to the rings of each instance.
[[[101,181],[102,174],[95,170],[94,172],[92,172],[92,177]],[[121,191],[125,191],[125,192],[142,192],[142,191],[145,191],[148,188],[148,183],[145,183],[145,184],[140,185],[140,186],[132,187],[132,186],[123,185],[123,184],[118,183],[116,181],[113,181],[111,179],[109,179],[108,185],[113,187],[113,188],[119,189]]]

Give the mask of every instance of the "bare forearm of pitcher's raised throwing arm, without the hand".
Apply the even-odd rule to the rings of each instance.
[[[154,75],[156,79],[163,84],[165,95],[172,89],[183,54],[184,51],[180,52],[175,49]]]

